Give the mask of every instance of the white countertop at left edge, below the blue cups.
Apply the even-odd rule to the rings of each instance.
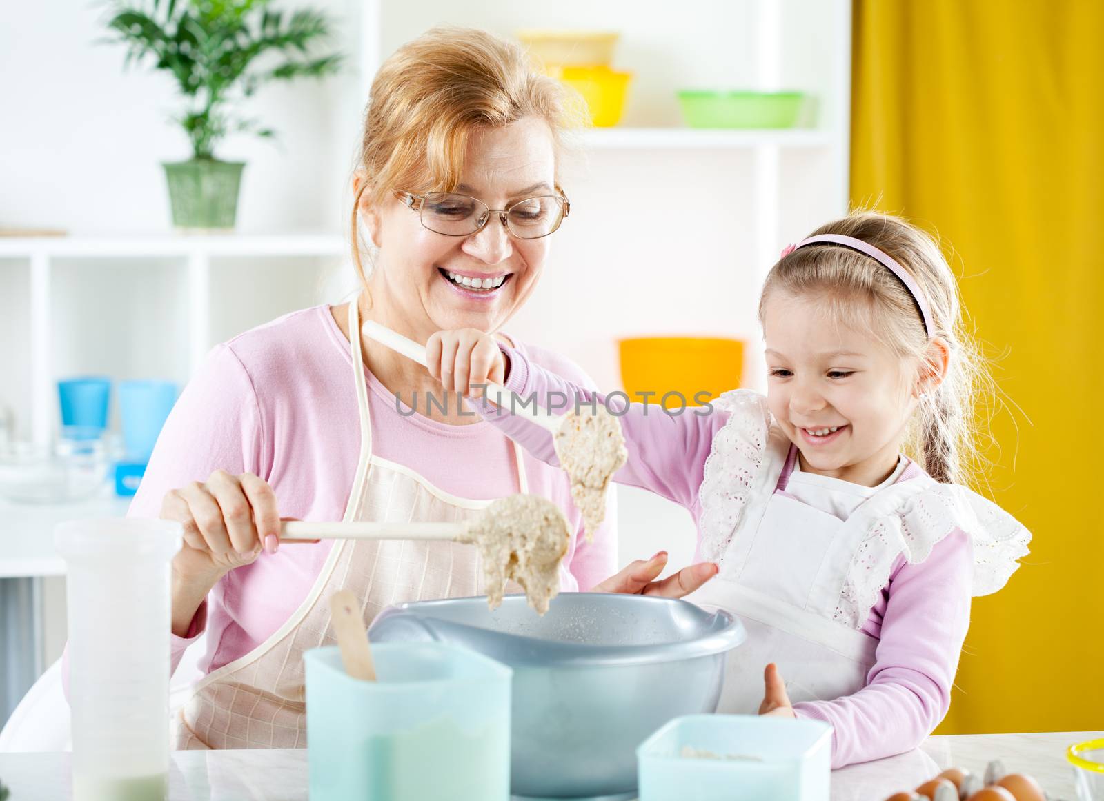
[[[0,500],[0,578],[64,576],[54,551],[54,526],[66,520],[125,517],[129,498],[105,494],[75,503],[12,503]]]

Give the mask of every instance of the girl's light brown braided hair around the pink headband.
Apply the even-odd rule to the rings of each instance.
[[[913,277],[931,308],[933,335],[947,343],[951,357],[943,383],[920,399],[909,426],[905,452],[936,481],[974,483],[979,467],[975,441],[975,404],[992,378],[977,345],[965,331],[958,284],[938,244],[904,220],[874,212],[856,212],[814,231],[809,236],[839,234],[873,245]],[[931,363],[920,308],[893,273],[848,247],[814,244],[783,256],[767,275],[760,298],[763,320],[767,296],[783,291],[822,299],[830,319],[866,327],[906,363]]]

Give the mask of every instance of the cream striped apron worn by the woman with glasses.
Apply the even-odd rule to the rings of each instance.
[[[457,522],[485,509],[491,501],[457,498],[410,468],[372,453],[355,300],[349,303],[349,340],[361,449],[343,520]],[[513,452],[518,491],[527,492],[524,464],[517,445]],[[197,684],[177,716],[176,747],[305,747],[302,653],[336,642],[330,628],[329,598],[340,589],[350,589],[361,599],[365,626],[392,604],[485,594],[479,554],[471,545],[403,540],[336,541],[307,598],[279,630],[252,652]],[[508,587],[508,591],[519,589]]]

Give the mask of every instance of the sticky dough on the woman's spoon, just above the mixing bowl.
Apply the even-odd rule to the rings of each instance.
[[[567,554],[571,528],[552,501],[537,495],[510,495],[491,503],[468,525],[461,542],[476,545],[482,556],[487,605],[497,609],[506,583],[526,590],[539,615],[560,591],[560,562]]]

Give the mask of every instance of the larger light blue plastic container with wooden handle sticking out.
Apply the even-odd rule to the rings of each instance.
[[[310,801],[507,801],[513,672],[446,643],[372,644],[379,681],[337,647],[304,655]]]

